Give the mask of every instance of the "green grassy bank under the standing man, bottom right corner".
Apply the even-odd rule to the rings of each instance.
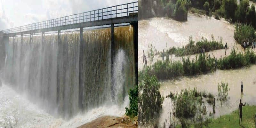
[[[254,120],[255,112],[256,112],[256,106],[243,107],[243,118],[242,118],[241,126],[239,126],[238,110],[235,110],[229,115],[224,115],[217,119],[212,120],[211,123],[209,123],[207,126],[204,126],[204,127],[206,128],[225,128],[225,127],[226,128],[238,128],[238,127],[254,128],[255,122],[253,122],[253,120]]]

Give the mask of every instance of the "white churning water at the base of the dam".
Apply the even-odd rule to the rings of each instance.
[[[129,98],[126,96],[120,106],[102,105],[64,120],[52,116],[39,104],[30,102],[27,95],[20,95],[5,84],[0,87],[0,94],[0,128],[75,128],[103,115],[123,116],[124,108],[129,106]]]

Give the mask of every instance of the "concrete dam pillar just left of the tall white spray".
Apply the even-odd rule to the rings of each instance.
[[[114,73],[114,59],[115,59],[115,37],[114,37],[114,24],[111,24],[111,90],[112,90],[112,99],[114,99],[114,77],[113,77],[113,73]]]

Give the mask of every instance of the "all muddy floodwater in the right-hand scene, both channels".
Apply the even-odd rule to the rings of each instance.
[[[139,21],[139,70],[142,68],[142,55],[145,50],[146,55],[149,51],[148,45],[152,44],[156,51],[165,51],[172,46],[182,47],[188,44],[188,37],[192,36],[194,41],[200,41],[202,37],[211,40],[212,35],[215,40],[223,38],[222,43],[227,43],[227,55],[231,53],[234,47],[236,51],[243,52],[243,48],[234,40],[235,26],[225,20],[216,20],[214,18],[207,19],[205,16],[188,13],[188,21],[178,22],[167,17],[151,18],[148,20]],[[225,56],[225,49],[206,52],[216,58]],[[189,58],[195,58],[196,55],[190,55]],[[165,58],[164,58],[165,59]],[[170,55],[172,61],[181,60],[181,57]],[[149,59],[148,59],[149,60]],[[153,62],[162,60],[162,57],[155,56]],[[150,64],[150,62],[149,62]],[[175,80],[161,81],[160,93],[165,97],[172,93],[178,93],[182,89],[194,89],[199,91],[211,92],[215,97],[218,93],[218,83],[228,83],[230,91],[228,92],[229,99],[222,106],[219,101],[216,101],[214,118],[221,115],[229,114],[238,108],[239,100],[246,102],[249,105],[256,105],[256,65],[250,67],[235,69],[235,70],[217,70],[212,73],[183,76]],[[241,81],[244,85],[244,94],[241,94]],[[207,105],[207,103],[206,103]],[[165,121],[170,120],[170,110],[172,110],[172,101],[170,98],[165,98],[163,109],[160,113],[159,123],[163,127]],[[208,114],[213,112],[212,106],[207,105]]]

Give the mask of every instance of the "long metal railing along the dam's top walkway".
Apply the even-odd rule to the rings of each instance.
[[[96,20],[106,20],[111,18],[126,17],[129,13],[138,12],[138,2],[127,4],[120,4],[112,7],[102,8],[98,10],[73,14],[52,20],[46,20],[38,23],[28,24],[16,28],[3,30],[4,33],[18,33],[30,30],[37,30],[42,28],[52,28],[63,25],[70,25],[76,23],[84,23]]]

